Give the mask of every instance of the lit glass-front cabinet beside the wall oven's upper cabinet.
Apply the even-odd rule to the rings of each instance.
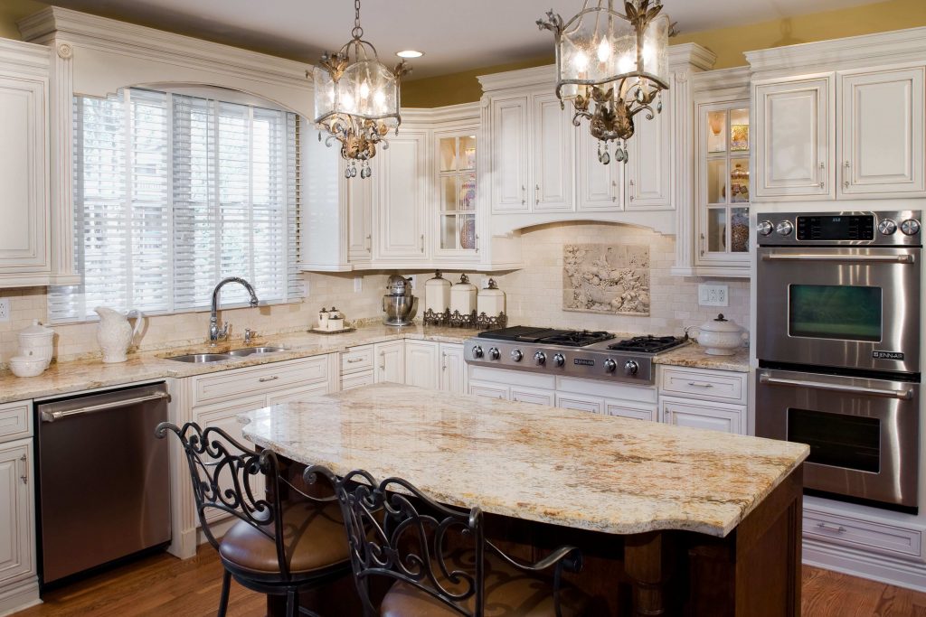
[[[749,101],[697,105],[696,263],[748,265]]]

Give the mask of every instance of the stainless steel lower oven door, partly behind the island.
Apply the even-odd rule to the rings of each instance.
[[[756,435],[810,446],[807,488],[917,507],[919,383],[759,369]]]

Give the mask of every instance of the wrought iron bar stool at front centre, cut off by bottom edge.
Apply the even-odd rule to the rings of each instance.
[[[485,538],[478,507],[448,508],[406,480],[377,482],[363,470],[340,478],[317,465],[304,479],[311,485],[319,476],[341,504],[366,617],[576,617],[589,603],[562,580],[582,569],[579,549],[521,563]],[[378,608],[370,593],[377,578],[393,581]]]

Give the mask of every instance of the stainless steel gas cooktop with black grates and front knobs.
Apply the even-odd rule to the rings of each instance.
[[[615,339],[610,332],[514,326],[467,341],[468,364],[534,373],[653,383],[653,356],[687,343],[677,337]]]

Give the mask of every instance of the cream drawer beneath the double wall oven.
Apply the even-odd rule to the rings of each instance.
[[[895,557],[922,559],[922,534],[890,524],[804,509],[804,536]]]

